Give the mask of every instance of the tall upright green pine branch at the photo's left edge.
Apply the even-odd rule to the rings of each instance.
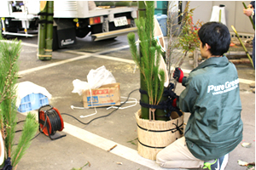
[[[18,44],[2,42],[0,43],[1,53],[0,59],[2,63],[1,67],[1,77],[3,80],[0,83],[1,94],[3,94],[3,100],[1,102],[1,125],[6,126],[5,135],[5,145],[7,148],[8,156],[11,156],[11,150],[13,145],[13,139],[15,138],[15,120],[16,111],[15,107],[15,82],[17,77],[15,77],[16,72],[18,72],[17,59],[20,53],[20,42]]]

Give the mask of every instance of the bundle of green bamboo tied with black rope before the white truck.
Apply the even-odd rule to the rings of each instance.
[[[38,59],[40,60],[52,58],[53,5],[53,1],[40,1],[38,26]]]

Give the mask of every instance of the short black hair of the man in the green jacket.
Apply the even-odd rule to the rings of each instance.
[[[198,36],[202,42],[202,47],[206,43],[212,55],[223,55],[230,48],[230,31],[227,26],[220,22],[207,22],[198,31]]]

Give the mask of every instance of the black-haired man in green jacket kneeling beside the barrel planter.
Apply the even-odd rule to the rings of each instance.
[[[198,31],[201,56],[207,58],[183,77],[173,77],[186,87],[172,105],[190,112],[184,137],[160,150],[160,167],[224,170],[229,153],[242,139],[241,99],[235,65],[224,53],[230,48],[230,31],[208,22]]]

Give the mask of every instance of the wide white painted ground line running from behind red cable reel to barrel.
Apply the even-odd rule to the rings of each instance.
[[[30,112],[36,116],[36,120],[38,121],[38,111]],[[20,112],[20,114],[26,116],[27,112]],[[72,124],[69,124],[67,122],[64,122],[64,129],[62,130],[62,132],[68,133],[73,137],[81,139],[86,143],[92,144],[106,151],[112,148],[115,144],[117,144],[117,146],[113,150],[110,150],[109,152],[113,153],[114,155],[121,156],[129,161],[136,162],[137,164],[143,165],[144,167],[149,167],[152,169],[164,169],[161,168],[158,164],[156,164],[155,161],[143,158],[143,156],[138,155],[137,150],[133,150],[122,144],[115,143],[112,140],[104,139],[101,136],[98,136],[94,133],[90,133],[82,128],[73,126]]]

